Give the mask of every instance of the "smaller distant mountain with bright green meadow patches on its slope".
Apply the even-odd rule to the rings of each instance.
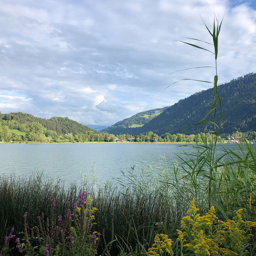
[[[119,129],[119,128],[135,128],[135,127],[142,127],[146,123],[148,123],[150,120],[152,120],[154,117],[157,117],[160,115],[165,109],[164,108],[156,108],[151,109],[147,111],[140,112],[132,117],[125,118],[112,126],[105,128],[101,130],[101,132],[109,132],[111,130]]]

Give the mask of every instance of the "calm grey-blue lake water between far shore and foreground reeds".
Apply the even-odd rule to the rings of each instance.
[[[75,181],[81,174],[88,179],[95,170],[99,181],[121,177],[131,166],[141,169],[153,168],[156,172],[165,166],[161,157],[165,154],[167,165],[179,160],[175,154],[191,147],[179,147],[175,143],[69,143],[69,144],[0,144],[0,174],[30,176],[35,171],[53,178]],[[237,148],[235,144],[225,144]],[[217,145],[218,155],[222,154]],[[151,167],[149,167],[151,166]]]

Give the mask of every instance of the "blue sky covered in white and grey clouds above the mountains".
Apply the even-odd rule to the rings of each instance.
[[[226,9],[226,11],[225,11]],[[256,4],[228,0],[1,0],[0,111],[111,125],[205,90],[212,53],[174,40],[219,39],[219,83],[256,71]],[[190,41],[192,43],[192,41]],[[201,45],[212,50],[211,45]]]

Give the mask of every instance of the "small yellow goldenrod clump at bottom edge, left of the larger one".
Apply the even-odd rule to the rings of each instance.
[[[160,256],[160,255],[172,255],[173,241],[165,234],[159,234],[155,236],[154,244],[148,249],[147,255]]]

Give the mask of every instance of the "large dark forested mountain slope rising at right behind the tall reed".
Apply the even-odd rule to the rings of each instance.
[[[232,133],[233,131],[246,132],[256,127],[256,74],[250,73],[228,83],[218,86],[218,94],[221,97],[224,117],[224,128],[221,133]],[[154,117],[142,127],[128,128],[115,125],[107,128],[109,133],[129,133],[138,135],[141,132],[152,131],[158,135],[166,132],[193,133],[198,126],[186,131],[190,124],[200,121],[210,110],[213,102],[213,89],[195,93],[188,98],[181,99],[174,105]],[[137,114],[138,115],[138,114]],[[136,115],[135,115],[136,116]],[[129,118],[127,118],[129,119]],[[124,121],[124,120],[123,120]],[[122,121],[121,121],[122,122]],[[221,126],[221,110],[217,111],[217,124]],[[202,127],[201,127],[202,128]],[[211,127],[206,128],[209,131]]]

